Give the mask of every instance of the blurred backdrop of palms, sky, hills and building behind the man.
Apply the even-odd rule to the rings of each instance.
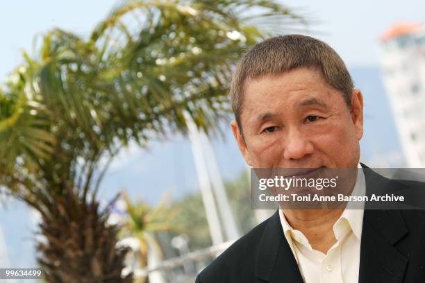
[[[236,60],[269,35],[312,35],[341,55],[365,98],[362,162],[425,166],[425,3],[244,2],[3,3],[0,268],[41,264],[48,282],[91,282],[105,269],[194,282],[270,213],[250,209],[226,100]],[[128,252],[103,262],[111,247]]]

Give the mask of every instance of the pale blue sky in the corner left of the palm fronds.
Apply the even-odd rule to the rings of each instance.
[[[31,52],[33,40],[52,28],[88,35],[108,15],[115,0],[15,0],[3,3],[0,17],[0,82]]]

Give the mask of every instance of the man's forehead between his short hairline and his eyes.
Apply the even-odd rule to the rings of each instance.
[[[261,113],[292,114],[308,108],[331,111],[344,105],[342,94],[315,68],[249,78],[244,83],[241,120],[256,121]]]

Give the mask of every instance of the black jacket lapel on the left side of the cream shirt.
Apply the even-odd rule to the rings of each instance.
[[[279,218],[279,211],[269,218],[256,262],[259,282],[302,283],[301,273],[292,250],[286,241]]]

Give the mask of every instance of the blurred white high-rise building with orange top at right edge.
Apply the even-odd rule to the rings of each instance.
[[[408,167],[425,167],[425,25],[397,24],[381,36],[383,82]]]

